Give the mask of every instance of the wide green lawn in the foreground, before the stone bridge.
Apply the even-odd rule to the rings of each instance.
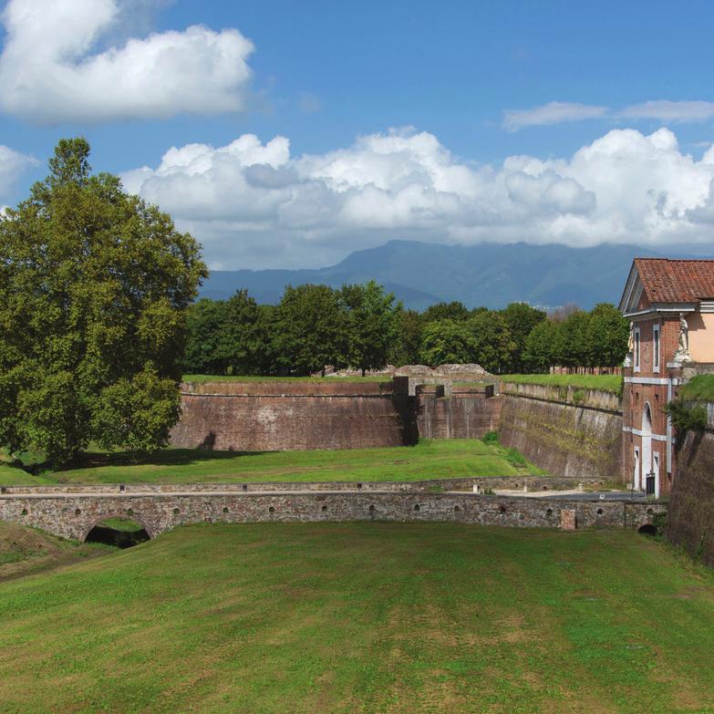
[[[191,526],[0,622],[5,714],[712,711],[714,580],[622,531]]]

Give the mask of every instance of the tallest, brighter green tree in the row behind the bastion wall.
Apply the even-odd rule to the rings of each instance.
[[[362,370],[380,369],[398,338],[398,309],[394,293],[386,294],[374,280],[367,285],[343,285],[339,293],[347,312],[346,362]]]

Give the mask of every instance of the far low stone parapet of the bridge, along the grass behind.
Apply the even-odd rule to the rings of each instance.
[[[244,493],[244,492],[473,492],[473,487],[525,492],[576,490],[581,485],[604,486],[598,477],[505,476],[425,481],[224,481],[212,483],[101,483],[3,486],[3,495],[131,494],[131,493]]]

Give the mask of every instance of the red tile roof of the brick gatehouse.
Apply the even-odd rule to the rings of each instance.
[[[635,258],[650,303],[698,303],[714,298],[714,260]]]

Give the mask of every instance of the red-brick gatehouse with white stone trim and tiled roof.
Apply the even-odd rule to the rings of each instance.
[[[620,300],[630,320],[623,367],[626,479],[659,497],[676,476],[664,407],[683,381],[714,371],[714,260],[636,258]]]

